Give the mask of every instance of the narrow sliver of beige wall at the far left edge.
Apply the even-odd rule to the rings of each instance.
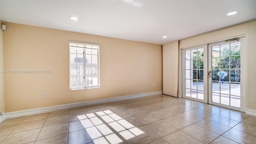
[[[0,21],[2,23],[2,21]],[[0,30],[0,71],[3,70],[3,32]],[[4,110],[4,74],[0,73],[0,111]]]

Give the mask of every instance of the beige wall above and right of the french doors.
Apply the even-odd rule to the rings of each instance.
[[[246,35],[246,108],[256,110],[256,20],[180,40],[179,48],[218,42],[235,36]]]

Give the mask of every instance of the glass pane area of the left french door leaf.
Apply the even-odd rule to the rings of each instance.
[[[205,60],[204,59],[207,57],[207,56],[204,56],[205,48],[207,48],[207,46],[198,46],[198,47],[188,48],[183,50],[183,54],[184,54],[183,97],[197,100],[200,102],[207,102],[207,98],[205,98],[207,92],[205,93],[204,91],[205,90],[204,88]],[[207,58],[206,58],[206,61],[207,61]],[[206,80],[207,80],[207,76],[206,76]]]

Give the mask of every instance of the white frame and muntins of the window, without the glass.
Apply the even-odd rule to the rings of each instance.
[[[78,49],[76,52],[71,52],[71,48],[79,48],[81,52],[78,53]],[[86,51],[90,50],[97,50],[97,54],[93,54],[92,52],[88,54]],[[75,63],[71,62],[71,55],[75,56]],[[83,62],[78,64],[78,54],[83,56]],[[86,57],[90,56],[91,62],[88,63]],[[97,64],[92,64],[92,56],[97,56]],[[73,57],[74,58],[74,57]],[[72,66],[76,66],[76,70],[72,71]],[[78,74],[78,66],[83,66],[83,72]],[[86,67],[87,66],[87,67]],[[93,73],[94,67],[94,73]],[[96,68],[95,68],[96,67]],[[90,71],[90,72],[89,72]],[[96,72],[96,74],[95,74]],[[88,74],[89,73],[89,74]],[[76,77],[76,86],[72,84],[72,78]],[[93,78],[94,77],[94,78]],[[78,84],[78,78],[80,78],[80,84]],[[94,80],[93,80],[94,79]],[[96,80],[95,80],[96,79]],[[70,90],[77,90],[77,89],[85,89],[85,88],[99,88],[100,87],[100,44],[97,42],[86,42],[86,41],[79,41],[79,40],[69,40],[69,87]]]

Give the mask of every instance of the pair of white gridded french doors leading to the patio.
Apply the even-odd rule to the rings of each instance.
[[[245,110],[245,38],[182,49],[182,97]]]

